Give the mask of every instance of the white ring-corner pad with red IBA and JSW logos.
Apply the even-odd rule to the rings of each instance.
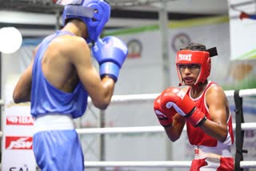
[[[2,170],[35,171],[33,153],[33,117],[30,103],[14,104],[12,86],[6,84],[5,109],[2,117]]]

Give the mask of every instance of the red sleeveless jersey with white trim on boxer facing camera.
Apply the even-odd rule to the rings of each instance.
[[[218,85],[215,82],[209,82],[208,85],[206,86],[206,89],[203,91],[203,93],[197,97],[197,98],[192,98],[190,96],[190,88],[187,90],[186,94],[196,103],[196,106],[198,109],[201,109],[202,113],[206,114],[207,119],[210,120],[210,114],[209,114],[209,109],[208,106],[206,105],[206,92],[208,89],[210,89],[211,86],[216,86]],[[191,145],[206,145],[210,147],[215,147],[218,144],[225,144],[225,145],[232,145],[234,143],[234,133],[233,133],[233,128],[232,128],[232,117],[230,114],[230,117],[227,121],[227,126],[228,126],[228,135],[226,137],[226,141],[220,142],[214,139],[213,137],[210,137],[210,135],[204,133],[202,129],[199,127],[194,127],[191,125],[188,121],[186,122],[186,129],[187,129],[187,135],[190,141]]]

